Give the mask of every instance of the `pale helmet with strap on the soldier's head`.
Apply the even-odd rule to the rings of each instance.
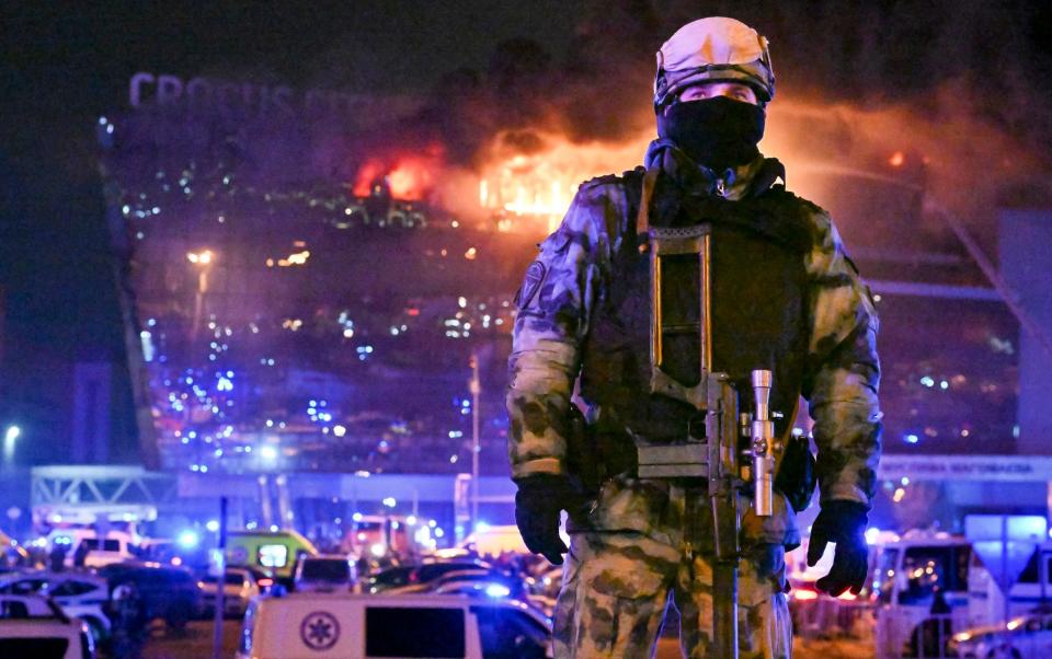
[[[767,38],[734,19],[710,16],[687,23],[658,51],[654,109],[700,82],[744,82],[761,103],[775,95]]]

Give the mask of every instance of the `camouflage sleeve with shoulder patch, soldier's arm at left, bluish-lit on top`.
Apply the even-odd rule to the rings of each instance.
[[[602,188],[582,186],[516,297],[506,397],[513,478],[563,473],[570,396],[608,261],[605,227],[613,212]]]

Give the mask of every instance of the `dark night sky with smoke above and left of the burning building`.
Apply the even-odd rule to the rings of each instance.
[[[1045,147],[1052,135],[1052,10],[1048,2],[988,4],[3,3],[0,424],[57,400],[31,391],[46,389],[41,383],[49,371],[78,359],[124,360],[93,129],[99,116],[126,107],[136,71],[426,94],[456,69],[492,72],[498,44],[526,37],[550,56],[553,63],[538,65],[547,79],[595,80],[595,96],[586,99],[591,112],[574,116],[585,132],[616,138],[620,125],[596,117],[616,114],[625,94],[648,93],[661,41],[690,19],[722,13],[771,37],[782,89],[869,104],[912,99],[923,112],[927,90],[962,79],[984,120]],[[507,97],[515,103],[495,103],[496,115],[528,104],[530,90],[512,84]],[[435,96],[439,111],[443,99]],[[56,451],[42,450],[38,458]]]

